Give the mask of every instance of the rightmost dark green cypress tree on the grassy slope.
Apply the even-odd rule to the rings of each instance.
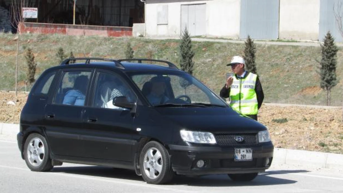
[[[336,77],[337,51],[338,47],[334,43],[334,38],[328,32],[324,37],[324,43],[321,47],[321,61],[320,61],[320,88],[326,91],[327,106],[330,105],[331,88],[338,83]]]

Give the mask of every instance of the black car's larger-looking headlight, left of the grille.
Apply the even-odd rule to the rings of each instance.
[[[180,135],[182,140],[192,143],[210,143],[215,144],[215,138],[209,132],[185,131],[181,130]]]

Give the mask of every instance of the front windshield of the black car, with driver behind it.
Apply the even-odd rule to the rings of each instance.
[[[187,73],[151,72],[131,73],[131,79],[140,88],[152,106],[226,107],[208,87]]]

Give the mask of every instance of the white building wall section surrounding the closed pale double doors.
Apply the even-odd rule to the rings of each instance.
[[[181,5],[206,3],[206,36],[238,38],[240,19],[240,0],[164,0],[146,1],[146,35],[181,35]],[[157,24],[157,10],[168,5],[168,24]]]

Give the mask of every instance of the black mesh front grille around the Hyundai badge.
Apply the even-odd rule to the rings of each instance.
[[[236,136],[244,138],[243,142],[237,142]],[[219,146],[236,146],[236,145],[257,145],[257,133],[246,133],[246,134],[215,134],[214,135],[217,144]]]

